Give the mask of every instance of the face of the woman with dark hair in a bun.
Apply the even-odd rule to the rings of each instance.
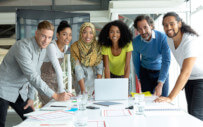
[[[57,39],[63,45],[68,45],[72,40],[72,30],[71,30],[71,28],[67,27],[64,30],[57,33]]]

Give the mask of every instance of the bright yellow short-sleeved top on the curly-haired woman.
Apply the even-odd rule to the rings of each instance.
[[[111,47],[102,46],[102,55],[109,57],[109,69],[110,72],[117,76],[124,75],[126,53],[133,51],[132,42],[128,43],[122,48],[119,56],[114,56],[111,52]]]

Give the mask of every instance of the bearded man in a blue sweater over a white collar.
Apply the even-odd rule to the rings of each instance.
[[[168,96],[171,58],[166,35],[154,30],[154,22],[148,15],[136,17],[134,27],[139,35],[133,39],[132,58],[142,92]]]

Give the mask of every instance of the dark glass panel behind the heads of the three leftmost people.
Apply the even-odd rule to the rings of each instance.
[[[45,11],[45,10],[17,10],[17,40],[34,36],[39,22],[43,20],[50,21],[55,26],[55,33],[57,26],[61,20],[68,21],[72,26],[73,39],[72,42],[78,40],[79,29],[82,23],[90,21],[90,15],[87,13],[67,13],[60,11]],[[55,39],[55,35],[53,39]],[[72,44],[72,43],[71,43]]]

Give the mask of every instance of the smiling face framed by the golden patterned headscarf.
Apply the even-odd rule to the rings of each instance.
[[[82,32],[82,40],[86,43],[91,43],[94,38],[92,28],[87,26]]]

